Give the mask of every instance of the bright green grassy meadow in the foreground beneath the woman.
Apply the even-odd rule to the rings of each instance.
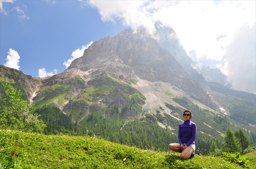
[[[0,163],[17,147],[20,163],[44,169],[241,169],[224,158],[181,160],[176,152],[142,150],[90,136],[43,135],[0,130]],[[255,157],[255,156],[254,156]]]

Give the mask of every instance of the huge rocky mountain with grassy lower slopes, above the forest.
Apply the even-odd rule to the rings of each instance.
[[[95,136],[110,140],[113,137],[108,133],[126,130],[125,124],[143,124],[146,129],[145,125],[156,123],[177,134],[182,111],[189,109],[198,127],[199,145],[206,144],[209,136],[222,140],[227,127],[243,128],[255,144],[252,117],[256,114],[256,95],[207,82],[192,68],[178,39],[163,38],[170,29],[156,31],[161,36],[126,29],[102,38],[67,70],[46,78],[33,78],[0,65],[0,79],[22,89],[39,112],[45,106],[57,107],[77,125],[90,127]],[[106,131],[103,123],[115,128]],[[125,133],[130,132],[132,129]]]

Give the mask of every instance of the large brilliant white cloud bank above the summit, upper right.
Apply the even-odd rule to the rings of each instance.
[[[124,25],[132,28],[145,27],[149,33],[154,33],[154,23],[161,21],[165,26],[171,26],[177,33],[187,54],[193,53],[194,61],[199,64],[213,61],[223,72],[236,72],[239,67],[233,67],[237,59],[231,59],[228,46],[236,44],[236,34],[241,27],[252,28],[256,21],[256,1],[254,0],[207,0],[207,1],[97,1],[91,0],[91,6],[98,9],[102,21],[119,19]],[[248,32],[247,32],[248,33]],[[255,37],[255,36],[254,36]],[[249,38],[249,37],[247,37]],[[240,43],[239,49],[255,51],[255,46]],[[192,52],[193,51],[193,52]],[[243,61],[243,67],[248,68],[255,60],[255,54],[236,55]],[[192,56],[190,56],[192,57]],[[230,62],[230,63],[229,63]],[[239,63],[237,63],[239,64]],[[229,65],[229,66],[227,66]],[[227,70],[226,70],[227,69]],[[252,72],[252,70],[249,70]],[[254,71],[255,72],[255,71]],[[234,89],[245,91],[238,85],[235,78],[243,74],[227,74],[234,83]],[[255,79],[255,74],[247,73],[249,79]],[[233,79],[234,78],[234,79]],[[245,79],[244,79],[245,80]],[[253,86],[254,84],[254,86]],[[255,83],[251,87],[255,88]],[[245,87],[246,88],[246,87]]]

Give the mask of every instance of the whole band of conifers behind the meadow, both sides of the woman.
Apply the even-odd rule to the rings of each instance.
[[[97,121],[95,120],[96,117],[90,114],[87,122],[88,120],[95,120],[95,125],[81,126],[74,123],[71,118],[56,107],[44,106],[35,112],[47,125],[44,129],[44,133],[47,135],[89,135],[119,144],[140,148],[152,147],[163,151],[169,151],[168,145],[170,143],[178,142],[178,135],[170,132],[167,128],[160,127],[155,123],[155,118],[152,115],[127,122],[108,119]],[[196,153],[204,155],[216,151],[243,153],[246,148],[252,146],[249,137],[241,128],[233,133],[230,127],[227,129],[224,139],[206,137],[198,132],[195,144],[197,146]]]

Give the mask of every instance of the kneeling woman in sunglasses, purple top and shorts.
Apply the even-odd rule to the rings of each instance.
[[[192,114],[189,110],[183,112],[184,122],[179,125],[178,140],[180,143],[169,144],[169,149],[181,152],[180,158],[188,159],[195,156],[196,125],[190,119]]]

